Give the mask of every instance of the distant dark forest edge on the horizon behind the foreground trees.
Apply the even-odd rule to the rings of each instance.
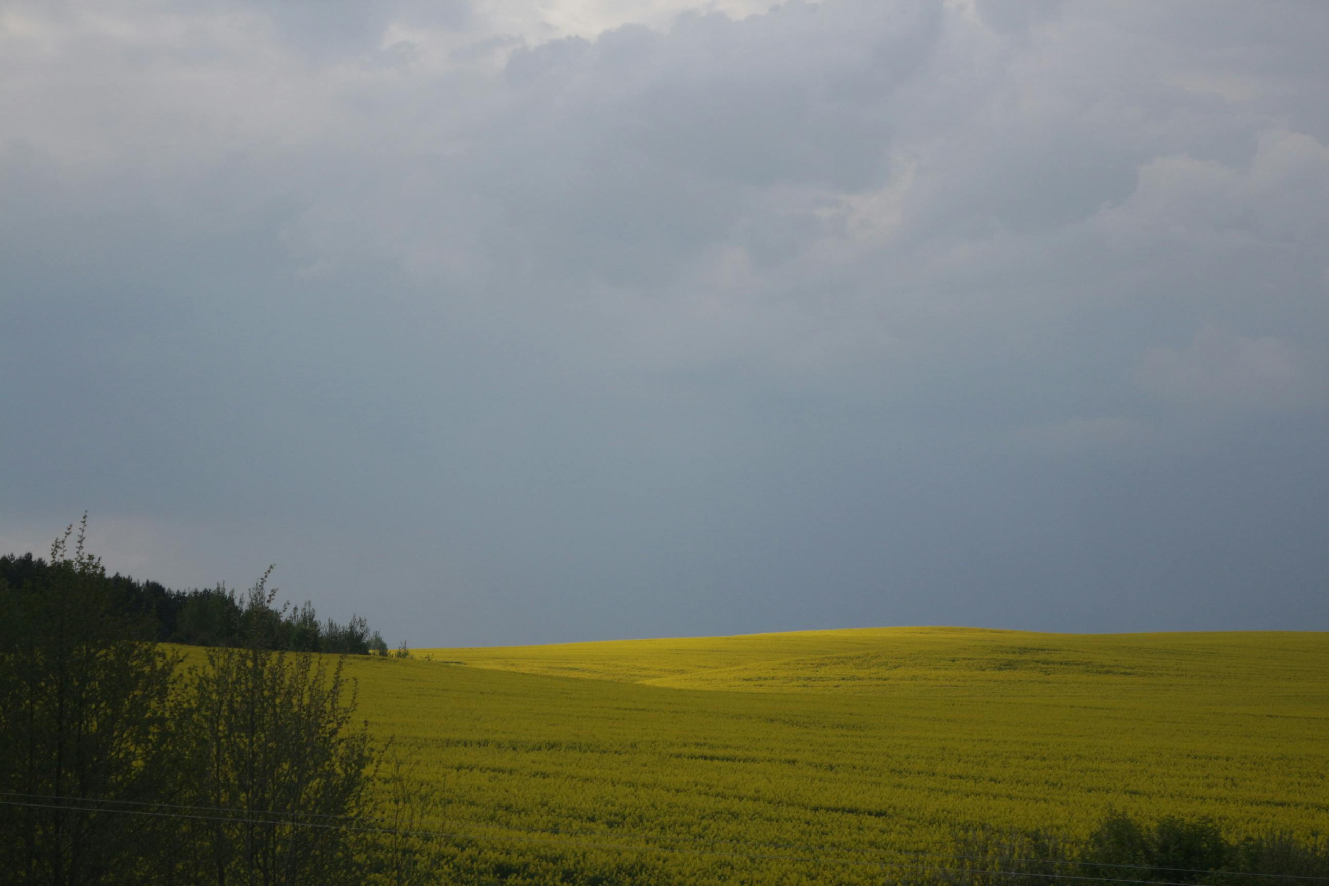
[[[0,557],[0,583],[13,588],[48,583],[60,566],[40,557],[8,554]],[[332,619],[320,622],[310,602],[282,610],[255,610],[245,595],[225,584],[209,588],[171,590],[158,582],[140,582],[114,575],[85,576],[100,584],[100,594],[117,615],[146,620],[152,639],[158,643],[186,646],[243,646],[255,626],[264,619],[262,632],[275,650],[294,652],[332,652],[336,655],[388,655],[388,644],[379,631],[360,615],[347,623]],[[393,655],[407,655],[405,643]]]

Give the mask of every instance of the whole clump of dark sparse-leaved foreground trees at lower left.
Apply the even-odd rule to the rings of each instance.
[[[15,562],[27,569],[17,583]],[[267,575],[226,596],[237,607],[227,644],[186,665],[154,642],[162,623],[117,596],[126,586],[84,550],[82,526],[40,567],[9,566],[0,574],[4,882],[409,882],[388,875],[391,847],[376,828],[387,748],[355,719],[343,659],[291,648],[292,620]]]

